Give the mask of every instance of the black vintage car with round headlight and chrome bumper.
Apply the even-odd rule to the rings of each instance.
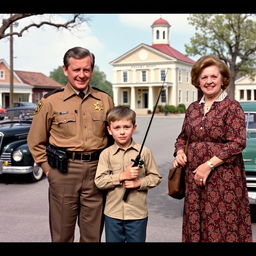
[[[20,110],[16,114],[15,109],[11,110],[11,118],[8,118],[7,111],[5,119],[0,121],[0,175],[22,174],[32,181],[39,181],[44,175],[43,170],[34,162],[27,144],[32,118],[23,118]]]

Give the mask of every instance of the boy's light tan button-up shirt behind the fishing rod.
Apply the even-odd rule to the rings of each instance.
[[[122,200],[125,188],[119,181],[121,172],[136,158],[140,147],[133,141],[124,150],[115,143],[100,154],[95,184],[100,189],[108,190],[104,214],[111,218],[133,220],[148,216],[147,190],[157,186],[162,178],[149,148],[144,146],[141,153],[141,160],[144,161],[138,176],[141,187],[132,189],[126,202]]]

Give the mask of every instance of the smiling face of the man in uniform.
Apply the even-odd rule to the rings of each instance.
[[[93,70],[91,57],[87,56],[83,59],[75,59],[71,57],[69,59],[69,66],[67,68],[63,66],[63,72],[69,83],[76,90],[84,90],[89,85],[92,78]]]

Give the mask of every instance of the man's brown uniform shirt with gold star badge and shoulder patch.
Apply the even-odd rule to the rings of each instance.
[[[68,83],[39,102],[28,135],[36,163],[47,161],[46,144],[69,151],[93,152],[107,146],[106,115],[113,107],[106,93],[88,88],[84,99]]]

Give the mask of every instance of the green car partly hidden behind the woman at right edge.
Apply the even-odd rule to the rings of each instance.
[[[250,204],[256,204],[256,102],[240,103],[246,117],[246,148],[243,159]]]

